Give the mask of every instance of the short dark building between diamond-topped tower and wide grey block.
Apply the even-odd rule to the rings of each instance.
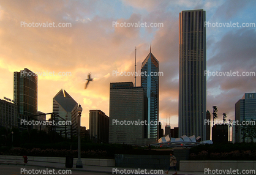
[[[108,143],[110,118],[100,110],[90,110],[89,134],[94,143]]]

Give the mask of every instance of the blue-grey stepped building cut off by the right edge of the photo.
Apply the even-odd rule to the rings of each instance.
[[[256,93],[245,93],[243,98],[235,104],[235,121],[243,124],[243,121],[251,119],[256,121]],[[244,133],[241,131],[242,126],[239,124],[235,125],[235,142],[250,142],[250,138],[244,138]],[[256,138],[254,138],[254,142],[256,142]]]

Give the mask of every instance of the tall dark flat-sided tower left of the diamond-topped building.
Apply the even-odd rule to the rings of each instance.
[[[27,116],[37,114],[37,75],[24,69],[14,72],[13,100],[18,106],[18,113]]]

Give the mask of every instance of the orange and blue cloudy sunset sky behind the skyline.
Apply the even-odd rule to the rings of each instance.
[[[178,127],[178,18],[182,10],[204,9],[209,23],[256,23],[256,1],[1,1],[0,99],[13,99],[13,72],[55,72],[38,77],[38,110],[53,111],[53,97],[65,89],[83,107],[109,114],[110,83],[134,81],[113,71],[134,72],[149,53],[159,61],[159,121]],[[162,23],[162,27],[117,27],[118,23]],[[70,23],[66,28],[24,27],[21,23]],[[255,26],[206,26],[207,70],[256,72]],[[58,76],[70,72],[71,76]],[[85,87],[87,74],[94,80]],[[207,109],[218,119],[235,119],[235,103],[256,92],[256,76],[208,76]],[[137,78],[140,86],[140,76]],[[212,116],[211,116],[212,117]]]

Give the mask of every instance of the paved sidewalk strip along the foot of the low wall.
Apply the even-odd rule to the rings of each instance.
[[[107,167],[107,166],[90,166],[90,165],[83,165],[83,168],[75,168],[75,165],[73,165],[73,168],[66,168],[65,163],[52,163],[52,162],[36,162],[36,161],[29,161],[28,163],[23,163],[23,160],[12,160],[12,159],[0,159],[0,165],[1,164],[7,164],[7,165],[24,165],[24,166],[39,166],[43,168],[55,168],[55,169],[72,169],[72,171],[87,171],[92,173],[108,173],[112,174],[113,169],[124,170],[131,169],[131,170],[138,170],[138,168],[121,168],[121,167]],[[140,168],[143,169],[143,168]],[[149,174],[150,169],[147,169],[147,173]],[[167,171],[167,169],[163,169],[163,171]],[[175,173],[175,171],[172,169],[169,173],[171,175],[172,173]],[[115,173],[116,174],[116,173]],[[121,174],[121,173],[120,173]],[[136,174],[136,173],[134,173]],[[165,174],[165,173],[164,173]],[[190,172],[190,171],[178,171],[177,175],[201,175],[205,174],[204,172]]]

